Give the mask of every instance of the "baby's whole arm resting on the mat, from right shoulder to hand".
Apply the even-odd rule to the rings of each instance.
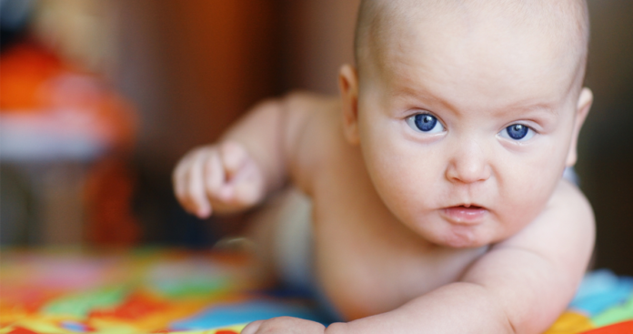
[[[534,222],[492,247],[456,283],[393,311],[327,329],[286,318],[254,323],[243,333],[540,333],[573,298],[593,242],[591,207],[578,188],[561,181]],[[306,331],[288,330],[286,321]],[[282,330],[266,331],[271,328]]]

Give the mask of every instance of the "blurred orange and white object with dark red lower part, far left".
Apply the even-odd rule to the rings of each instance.
[[[76,194],[81,199],[67,202],[81,211],[75,216],[82,221],[62,226],[70,216],[62,217],[53,230],[79,228],[98,244],[135,242],[140,231],[130,208],[134,178],[126,166],[136,140],[134,108],[102,77],[34,43],[3,50],[0,68],[2,161],[89,166],[73,176],[82,185]]]

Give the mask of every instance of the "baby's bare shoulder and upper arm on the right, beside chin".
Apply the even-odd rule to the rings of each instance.
[[[462,281],[487,288],[503,300],[515,328],[542,331],[576,293],[588,268],[594,236],[587,198],[578,187],[561,180],[538,218],[491,247],[467,269]]]

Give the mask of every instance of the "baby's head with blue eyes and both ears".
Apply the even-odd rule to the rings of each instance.
[[[347,139],[423,238],[500,241],[576,162],[587,49],[583,0],[365,0],[339,76]]]

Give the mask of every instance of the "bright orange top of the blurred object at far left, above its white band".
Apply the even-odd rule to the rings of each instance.
[[[100,77],[33,43],[3,51],[0,68],[0,114],[54,115],[64,118],[59,131],[88,132],[116,150],[133,144],[135,113]]]

